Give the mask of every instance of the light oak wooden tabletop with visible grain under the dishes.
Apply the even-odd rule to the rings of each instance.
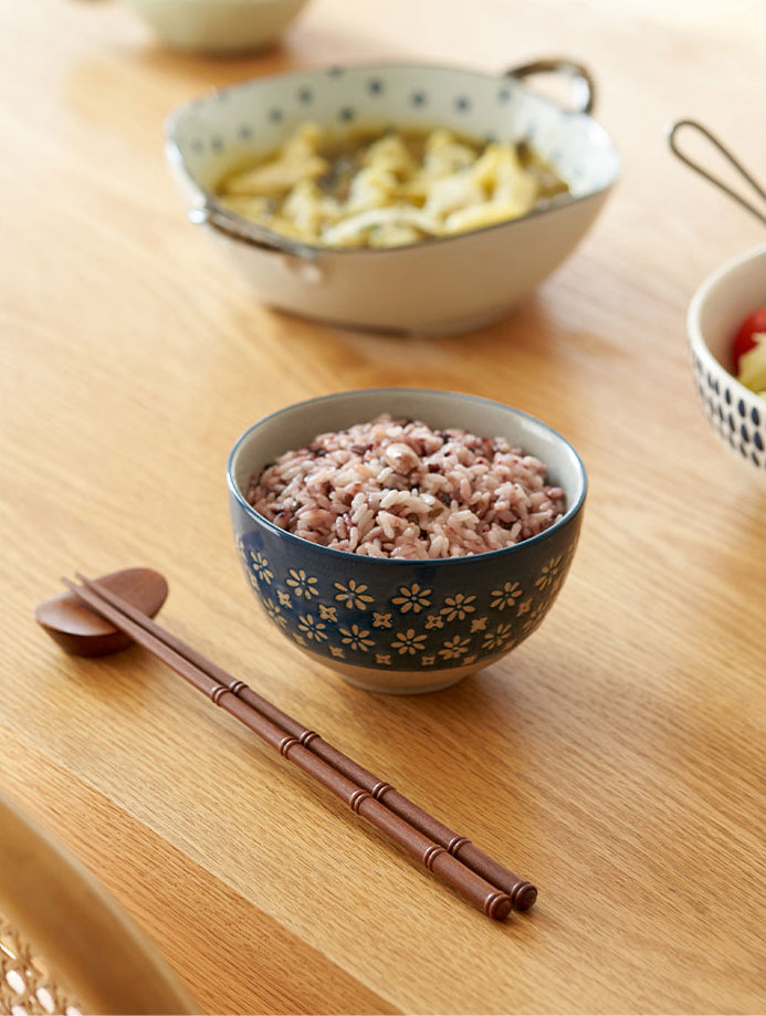
[[[735,3],[314,0],[258,57],[169,52],[120,3],[0,4],[1,785],[210,1013],[763,1013],[766,497],[691,379],[701,280],[763,227],[669,153],[703,119],[762,177],[766,15]],[[162,124],[342,61],[587,63],[623,158],[507,320],[407,341],[253,301],[188,223]],[[510,270],[511,266],[510,266]],[[368,694],[261,615],[237,436],[286,404],[457,388],[548,421],[590,479],[549,618],[455,688]],[[536,882],[499,924],[146,653],[64,656],[59,576],[167,575],[165,624]]]

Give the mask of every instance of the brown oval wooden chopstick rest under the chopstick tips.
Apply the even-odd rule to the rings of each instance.
[[[158,614],[168,596],[167,582],[151,568],[124,568],[102,576],[98,582],[148,617]],[[104,620],[72,593],[44,600],[35,608],[34,619],[71,656],[106,656],[133,643],[130,636]]]

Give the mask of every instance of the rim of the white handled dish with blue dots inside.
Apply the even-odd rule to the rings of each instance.
[[[562,61],[566,64],[567,61]],[[198,107],[206,99],[227,99],[227,96],[233,95],[237,92],[244,92],[250,88],[256,88],[260,84],[263,83],[284,83],[287,85],[291,81],[305,81],[306,78],[321,78],[328,74],[343,74],[346,71],[354,72],[365,72],[365,73],[385,73],[385,72],[442,72],[442,73],[455,73],[460,75],[471,76],[483,81],[496,81],[499,84],[506,83],[510,88],[517,88],[521,92],[532,96],[536,103],[539,103],[542,106],[546,106],[549,109],[555,109],[557,114],[565,116],[570,119],[580,119],[584,123],[587,123],[588,129],[595,135],[598,136],[599,140],[604,144],[605,147],[608,147],[611,153],[613,168],[609,177],[600,185],[589,188],[587,191],[577,195],[569,195],[566,200],[560,202],[553,202],[552,205],[544,206],[542,208],[535,208],[532,211],[527,212],[524,216],[521,216],[518,219],[510,219],[504,222],[495,222],[490,226],[482,226],[476,229],[466,230],[463,233],[457,233],[450,237],[433,237],[428,240],[420,241],[416,244],[407,244],[403,247],[396,248],[337,248],[337,247],[327,247],[321,243],[308,243],[306,241],[294,241],[280,237],[277,233],[274,233],[272,230],[266,227],[259,227],[253,222],[238,216],[234,212],[231,212],[223,206],[214,193],[212,193],[207,187],[203,187],[195,176],[189,171],[187,167],[186,159],[179,148],[179,145],[176,140],[176,135],[178,126],[183,117],[192,112],[195,107]],[[466,129],[470,133],[471,124],[466,123]],[[518,227],[523,222],[527,222],[529,219],[535,219],[542,216],[554,214],[559,211],[562,208],[568,208],[573,205],[579,203],[581,201],[589,200],[597,195],[608,191],[611,187],[615,186],[619,178],[620,174],[620,159],[615,148],[613,142],[608,134],[608,132],[591,116],[590,113],[586,113],[579,109],[566,109],[559,103],[556,103],[554,99],[548,98],[545,95],[542,95],[538,92],[533,92],[525,84],[523,78],[514,77],[513,69],[506,74],[492,74],[483,71],[476,71],[473,67],[463,67],[459,65],[451,64],[441,64],[441,63],[399,63],[399,62],[376,62],[376,63],[358,63],[358,64],[344,64],[344,65],[334,65],[328,67],[316,67],[313,70],[302,70],[302,71],[292,71],[286,74],[269,75],[261,78],[249,78],[246,81],[237,82],[233,85],[228,85],[224,88],[216,88],[213,91],[208,91],[196,98],[185,103],[179,106],[174,113],[170,114],[166,122],[165,126],[165,136],[166,136],[166,150],[169,160],[176,166],[177,170],[180,171],[188,184],[197,193],[197,211],[203,210],[208,213],[208,221],[214,228],[222,228],[224,232],[229,232],[227,228],[228,222],[233,226],[231,229],[231,234],[237,239],[242,240],[245,243],[254,243],[259,247],[265,245],[269,247],[273,244],[275,250],[283,250],[286,253],[297,254],[304,258],[313,259],[316,256],[332,256],[332,258],[384,258],[391,256],[391,254],[397,254],[400,251],[411,251],[413,248],[422,249],[423,247],[432,247],[434,244],[444,244],[444,243],[455,243],[465,237],[473,237],[481,233],[486,233],[496,230],[508,230],[514,227]],[[210,214],[212,212],[212,214]],[[223,220],[223,221],[221,221]]]

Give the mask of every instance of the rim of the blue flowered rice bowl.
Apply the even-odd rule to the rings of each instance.
[[[322,544],[311,543],[311,541],[306,541],[302,536],[296,536],[294,533],[288,533],[286,530],[282,530],[280,528],[280,526],[274,525],[267,519],[264,519],[264,516],[259,514],[255,511],[255,509],[248,502],[246,497],[243,495],[242,491],[240,490],[239,484],[237,483],[234,479],[234,461],[239,454],[240,449],[248,441],[248,438],[250,437],[250,434],[254,430],[256,430],[259,427],[261,427],[263,423],[265,423],[267,420],[273,420],[280,416],[283,416],[288,412],[293,412],[296,409],[301,409],[309,405],[319,407],[323,402],[333,401],[338,396],[379,395],[386,391],[408,392],[408,394],[411,392],[412,395],[418,395],[418,394],[429,394],[429,395],[439,394],[439,395],[445,395],[445,396],[457,395],[457,396],[460,396],[461,399],[468,399],[470,401],[483,402],[484,405],[487,405],[487,406],[494,406],[499,409],[503,409],[505,412],[511,412],[513,416],[521,417],[525,420],[528,420],[535,427],[538,427],[547,431],[549,434],[552,434],[556,439],[556,441],[560,442],[566,448],[566,450],[569,452],[571,459],[574,460],[577,467],[579,489],[577,491],[577,496],[574,499],[574,501],[567,504],[567,510],[564,513],[564,515],[562,515],[562,517],[558,519],[552,526],[548,526],[547,530],[544,530],[542,533],[538,533],[536,536],[529,536],[526,540],[523,540],[521,543],[513,544],[513,546],[501,547],[497,551],[486,551],[483,554],[466,555],[464,557],[437,557],[437,558],[430,558],[430,557],[428,558],[364,557],[363,559],[365,562],[385,561],[389,565],[396,565],[399,567],[403,567],[407,565],[411,567],[413,564],[428,565],[429,567],[434,567],[434,568],[440,568],[440,567],[443,568],[447,566],[468,567],[471,563],[475,563],[478,559],[484,561],[489,558],[501,557],[504,554],[510,555],[510,554],[523,553],[524,548],[529,547],[533,544],[541,543],[544,540],[547,540],[557,530],[565,526],[583,507],[583,503],[585,502],[585,497],[588,491],[588,479],[587,479],[587,473],[585,471],[585,464],[580,455],[575,450],[575,448],[569,443],[569,441],[567,441],[566,438],[562,437],[562,434],[558,433],[558,431],[554,430],[553,427],[550,427],[548,423],[545,423],[543,420],[538,419],[537,417],[534,417],[531,413],[525,412],[523,409],[515,409],[513,406],[506,406],[503,402],[499,402],[494,399],[486,399],[486,398],[483,398],[482,396],[470,395],[463,391],[437,392],[436,389],[431,389],[431,388],[428,388],[428,389],[426,388],[363,388],[363,389],[354,389],[349,391],[336,391],[336,392],[333,392],[332,395],[318,396],[312,399],[304,399],[301,402],[294,402],[291,406],[285,406],[284,408],[277,409],[274,412],[271,412],[267,416],[262,417],[260,420],[256,420],[255,423],[252,423],[250,427],[248,427],[245,431],[243,431],[240,434],[240,437],[234,442],[234,447],[229,453],[229,460],[227,462],[227,484],[229,486],[229,490],[235,497],[237,502],[239,503],[239,505],[243,509],[243,511],[248,515],[250,515],[253,520],[255,520],[259,523],[259,525],[264,526],[266,530],[270,530],[274,535],[285,538],[288,542],[292,541],[292,542],[295,542],[296,544],[302,544],[304,546],[308,544],[309,546],[314,547],[319,553],[328,554],[330,556],[338,557],[342,559],[347,559],[349,557],[358,559],[359,558],[358,554],[354,554],[350,551],[338,551],[335,547],[325,547]],[[288,449],[285,449],[285,451],[288,451]]]

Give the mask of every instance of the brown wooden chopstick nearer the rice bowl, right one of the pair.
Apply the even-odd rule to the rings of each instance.
[[[403,794],[400,794],[389,783],[378,779],[358,763],[344,755],[338,748],[324,741],[315,731],[307,730],[297,720],[288,716],[286,713],[282,712],[281,709],[277,709],[277,706],[258,694],[258,692],[253,691],[253,689],[243,681],[232,678],[231,674],[227,673],[227,671],[217,663],[208,660],[191,646],[188,646],[171,632],[162,629],[156,621],[153,621],[150,617],[134,607],[133,604],[129,604],[127,600],[112,593],[106,586],[101,585],[97,580],[88,579],[80,573],[76,574],[76,577],[84,586],[97,591],[105,600],[112,604],[112,606],[117,607],[117,609],[122,610],[123,614],[140,625],[146,631],[151,631],[157,635],[167,646],[175,649],[176,652],[186,657],[189,661],[195,663],[196,667],[213,678],[213,680],[218,681],[220,684],[224,684],[233,694],[238,695],[238,698],[242,699],[249,705],[252,705],[253,709],[258,710],[258,712],[264,715],[273,724],[282,727],[285,733],[311,748],[315,755],[318,755],[319,758],[328,765],[332,765],[333,768],[337,769],[347,779],[350,779],[357,786],[361,787],[361,789],[371,794],[372,797],[382,802],[387,808],[396,813],[400,818],[403,818],[429,839],[433,840],[433,842],[443,847],[453,857],[462,861],[463,865],[472,871],[475,871],[476,874],[480,874],[482,878],[486,879],[487,882],[491,882],[497,889],[507,893],[516,910],[528,910],[533,905],[537,899],[537,889],[532,882],[514,874],[513,871],[510,871],[499,861],[484,853],[464,836],[460,836],[458,832],[454,832],[436,819],[432,815],[429,815],[428,811],[423,811],[422,808],[405,797]]]

